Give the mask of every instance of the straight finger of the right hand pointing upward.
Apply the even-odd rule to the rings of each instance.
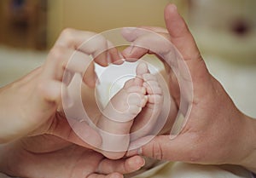
[[[202,60],[200,51],[195,43],[195,39],[189,32],[182,16],[178,14],[177,7],[174,4],[168,4],[165,9],[166,28],[169,32],[171,42],[178,49],[185,60],[193,82],[204,78],[208,72],[205,62]],[[203,78],[201,78],[203,77]],[[208,78],[207,78],[208,79]]]

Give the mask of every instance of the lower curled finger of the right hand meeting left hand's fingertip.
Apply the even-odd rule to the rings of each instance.
[[[191,78],[187,64],[183,60],[182,55],[177,51],[176,47],[170,42],[170,37],[165,34],[158,34],[155,32],[141,32],[143,29],[133,29],[132,32],[139,31],[135,36],[136,39],[132,42],[132,46],[123,51],[125,59],[135,61],[147,53],[154,53],[159,56],[166,64],[169,71],[168,74],[176,76],[179,84],[183,89],[191,89]],[[157,44],[157,45],[155,45]],[[130,48],[130,49],[129,49]],[[129,53],[129,54],[127,54]],[[171,67],[172,66],[172,70]],[[171,77],[172,77],[171,76]],[[172,78],[171,79],[172,83]],[[173,78],[176,79],[176,78]],[[175,85],[178,86],[178,85]],[[174,88],[174,87],[172,87]],[[175,87],[174,89],[177,89]],[[172,91],[177,93],[177,91]],[[185,91],[189,93],[189,91]],[[179,97],[179,96],[177,96]],[[177,100],[177,99],[176,99]],[[190,98],[189,98],[190,100]]]

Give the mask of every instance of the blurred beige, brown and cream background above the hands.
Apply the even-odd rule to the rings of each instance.
[[[165,27],[167,3],[177,4],[212,75],[256,118],[255,0],[1,0],[0,86],[41,65],[66,27]]]

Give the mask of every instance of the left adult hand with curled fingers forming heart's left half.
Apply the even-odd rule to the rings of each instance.
[[[61,111],[61,92],[68,98],[67,85],[75,72],[90,87],[95,85],[96,73],[90,55],[101,66],[122,62],[118,50],[101,35],[67,29],[50,50],[44,66],[0,89],[0,143],[48,133],[87,146],[73,133],[67,120],[62,119],[65,116]],[[62,81],[64,75],[69,79]],[[101,144],[101,137],[86,123],[77,125],[85,130],[84,140]]]

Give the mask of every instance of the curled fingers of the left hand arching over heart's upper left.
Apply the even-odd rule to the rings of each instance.
[[[101,34],[67,29],[61,33],[55,46],[50,50],[44,75],[61,80],[65,69],[82,74],[86,71],[88,75],[83,78],[84,82],[94,87],[96,72],[91,67],[93,61],[101,66],[124,62],[119,51]]]

